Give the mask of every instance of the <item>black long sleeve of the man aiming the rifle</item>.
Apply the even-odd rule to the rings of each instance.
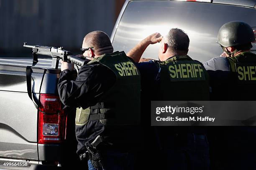
[[[61,102],[69,107],[87,108],[95,105],[102,94],[114,85],[115,80],[115,74],[99,63],[83,65],[76,80],[72,80],[70,70],[63,70],[58,83]]]

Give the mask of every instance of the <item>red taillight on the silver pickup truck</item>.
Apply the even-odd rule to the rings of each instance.
[[[59,96],[41,94],[38,143],[60,143],[65,139],[67,115],[61,110]]]

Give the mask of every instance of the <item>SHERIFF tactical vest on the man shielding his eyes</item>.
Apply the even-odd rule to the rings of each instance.
[[[155,64],[160,76],[158,100],[209,100],[208,74],[201,62],[177,55]]]

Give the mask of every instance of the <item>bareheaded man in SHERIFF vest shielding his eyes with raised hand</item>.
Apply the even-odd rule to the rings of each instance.
[[[148,159],[152,159],[148,165],[157,169],[207,170],[210,166],[209,148],[202,128],[150,127],[151,101],[209,100],[207,71],[200,62],[187,55],[189,37],[183,30],[172,28],[165,37],[154,33],[139,42],[128,56],[138,62],[148,45],[159,41],[159,60],[137,64],[141,72],[141,120],[148,144],[145,152],[156,155],[151,157],[148,153]],[[156,152],[156,146],[159,152]]]

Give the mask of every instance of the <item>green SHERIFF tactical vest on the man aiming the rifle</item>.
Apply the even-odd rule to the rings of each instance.
[[[125,52],[104,54],[88,62],[100,63],[115,73],[116,82],[99,102],[88,108],[77,108],[76,125],[100,120],[105,126],[138,125],[140,123],[141,76]]]

